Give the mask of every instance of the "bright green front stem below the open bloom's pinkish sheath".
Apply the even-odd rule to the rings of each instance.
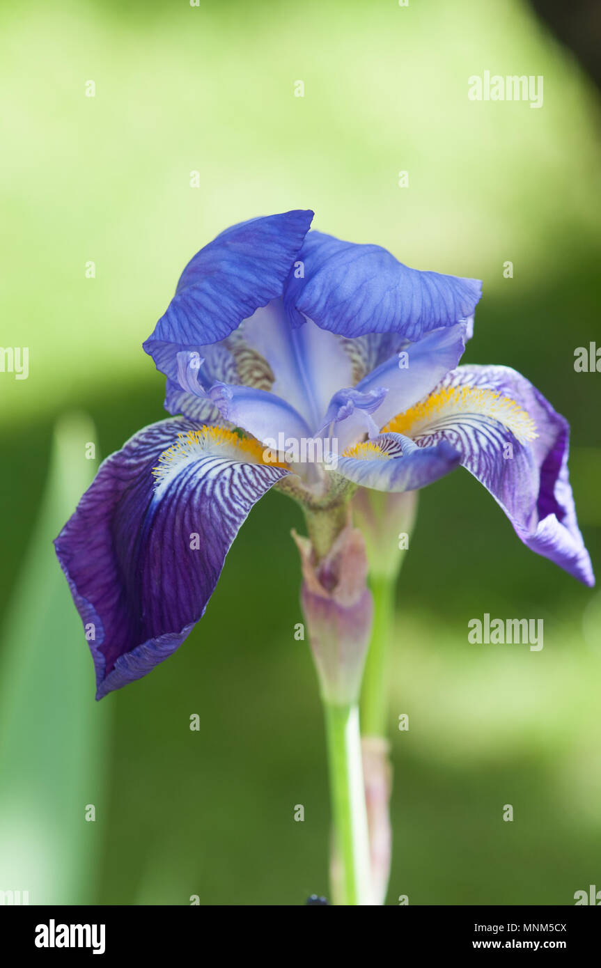
[[[334,832],[342,865],[337,903],[371,904],[370,845],[357,705],[325,703],[325,729]]]

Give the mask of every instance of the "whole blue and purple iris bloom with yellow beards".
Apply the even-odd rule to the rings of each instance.
[[[227,228],[189,262],[144,344],[174,416],[104,462],[56,538],[98,699],[181,645],[274,486],[346,500],[461,464],[528,548],[594,583],[566,420],[515,370],[458,366],[480,283],[309,231],[312,218]]]

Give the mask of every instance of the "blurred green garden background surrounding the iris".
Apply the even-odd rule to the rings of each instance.
[[[601,336],[597,92],[515,0],[34,2],[0,28],[0,344],[30,348],[27,379],[0,374],[0,890],[302,904],[328,892],[329,803],[293,638],[300,513],[261,501],[182,649],[96,704],[49,544],[98,463],[86,419],[103,456],[161,419],[140,344],[185,263],[231,223],[311,207],[321,230],[484,281],[465,361],[516,367],[571,421],[598,569],[601,375],[573,365]],[[543,75],[543,107],[470,102],[484,70]],[[544,619],[544,649],[469,646],[483,612]],[[465,471],[423,492],[391,677],[388,903],[601,887],[600,620],[600,593],[528,552]]]

